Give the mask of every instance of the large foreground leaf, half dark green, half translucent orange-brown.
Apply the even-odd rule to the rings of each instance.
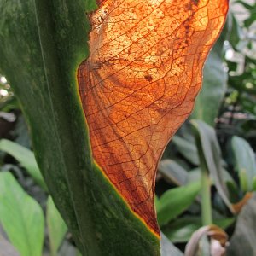
[[[158,255],[156,166],[193,107],[228,1],[99,3],[85,61],[94,1],[1,0],[1,65],[81,252]]]

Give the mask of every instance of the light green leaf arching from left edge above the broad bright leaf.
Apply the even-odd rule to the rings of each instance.
[[[38,185],[46,190],[44,178],[42,177],[35,156],[31,150],[6,139],[0,140],[0,150],[12,155],[16,160],[18,160],[20,165],[26,169]]]

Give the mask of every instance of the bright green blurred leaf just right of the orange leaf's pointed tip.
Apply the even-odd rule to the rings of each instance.
[[[167,190],[160,197],[159,207],[156,209],[158,224],[167,224],[184,212],[195,200],[200,188],[200,183],[189,183],[177,189]]]

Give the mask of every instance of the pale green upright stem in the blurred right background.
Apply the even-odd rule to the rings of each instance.
[[[203,226],[212,224],[211,180],[206,166],[201,166],[201,218]]]

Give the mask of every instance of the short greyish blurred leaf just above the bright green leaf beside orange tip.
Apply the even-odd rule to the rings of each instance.
[[[166,178],[166,180],[177,186],[187,183],[188,172],[174,160],[166,159],[160,161],[158,171]]]

